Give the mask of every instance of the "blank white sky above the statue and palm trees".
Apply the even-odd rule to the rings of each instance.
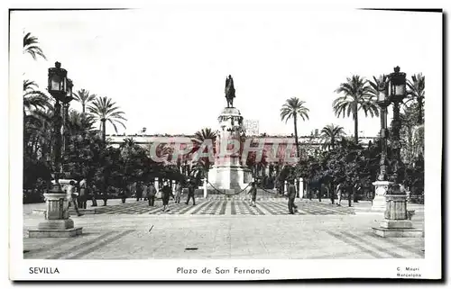
[[[60,61],[74,91],[85,88],[121,107],[127,122],[118,133],[217,129],[232,75],[235,107],[245,119],[258,120],[261,133],[293,132],[292,121],[281,122],[280,109],[295,96],[309,109],[299,135],[309,135],[329,123],[354,133],[352,118],[337,118],[332,109],[346,77],[372,79],[400,66],[408,77],[421,72],[428,78],[428,56],[441,53],[437,23],[437,14],[424,13],[161,5],[20,11],[12,14],[11,29],[21,37],[32,32],[48,59],[22,56],[25,78],[45,89],[47,69]],[[76,102],[71,107],[81,110]],[[379,130],[379,118],[359,113],[361,135]],[[107,125],[106,133],[115,131]]]

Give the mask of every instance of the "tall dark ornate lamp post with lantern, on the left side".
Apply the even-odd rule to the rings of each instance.
[[[55,98],[55,111],[53,115],[53,161],[55,172],[60,172],[61,160],[61,102],[63,102],[68,93],[68,71],[61,68],[60,62],[55,62],[54,68],[49,68],[49,86],[47,90],[53,98]]]

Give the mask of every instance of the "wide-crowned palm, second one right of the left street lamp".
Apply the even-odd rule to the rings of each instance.
[[[106,122],[110,122],[113,125],[116,133],[116,123],[121,124],[125,128],[123,122],[126,121],[124,118],[125,113],[119,111],[119,106],[116,106],[115,102],[113,102],[111,98],[106,96],[97,97],[92,105],[87,107],[87,110],[89,113],[92,113],[96,121],[100,122],[102,129],[102,140],[104,144],[106,143]]]

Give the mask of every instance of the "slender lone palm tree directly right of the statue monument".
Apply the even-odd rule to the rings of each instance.
[[[281,107],[281,120],[287,123],[290,118],[294,122],[294,141],[296,143],[297,157],[300,158],[299,140],[298,140],[298,117],[305,122],[308,119],[308,108],[304,106],[306,102],[299,100],[298,97],[287,99],[286,103]]]

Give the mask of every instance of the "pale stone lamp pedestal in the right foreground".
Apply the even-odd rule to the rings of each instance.
[[[407,216],[407,195],[386,194],[384,220],[373,232],[381,237],[423,237],[423,230],[414,229]]]

